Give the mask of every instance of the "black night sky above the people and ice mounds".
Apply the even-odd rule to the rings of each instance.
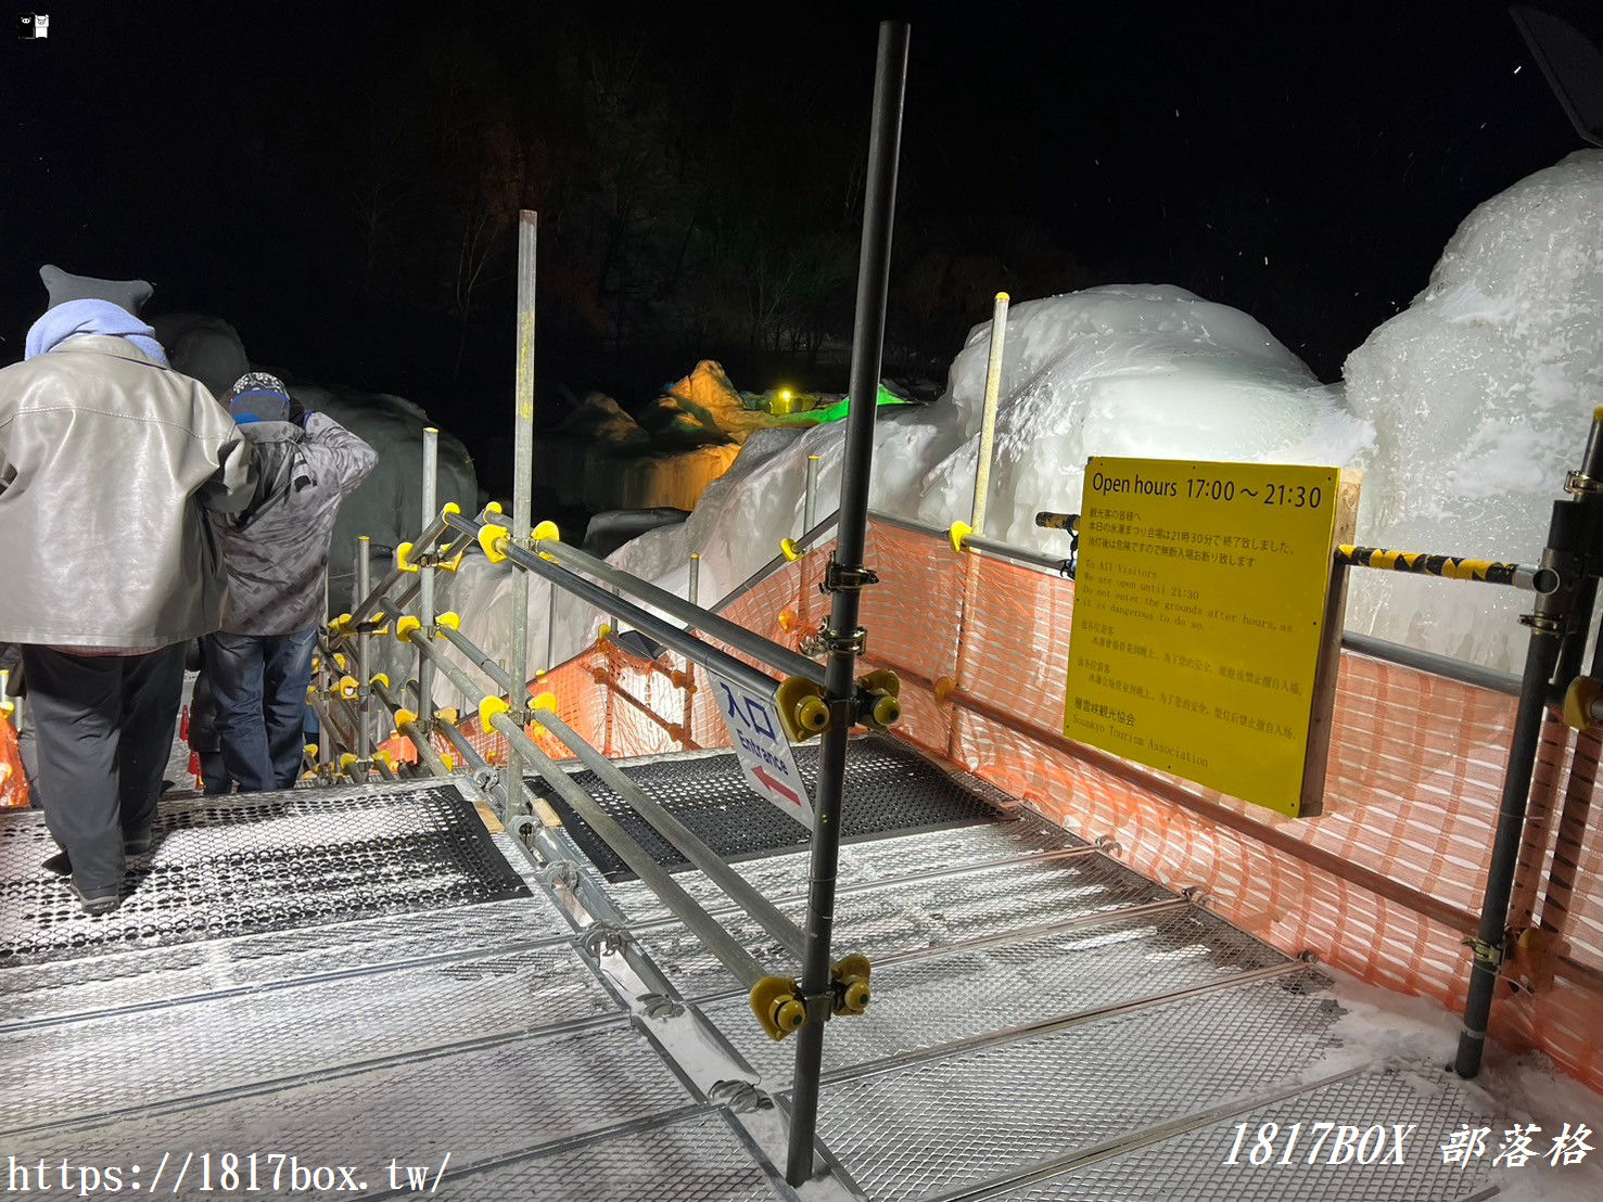
[[[989,296],[1172,282],[1326,380],[1481,200],[1582,143],[1500,5],[925,3],[886,373]],[[35,269],[412,396],[503,457],[510,216],[542,213],[540,407],[720,357],[845,386],[875,8],[71,3],[0,40],[0,361]]]

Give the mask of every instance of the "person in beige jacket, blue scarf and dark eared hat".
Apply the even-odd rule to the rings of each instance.
[[[50,308],[0,370],[0,641],[22,646],[50,867],[104,914],[151,849],[184,644],[223,620],[205,514],[244,510],[256,466],[135,316],[149,284],[40,276]]]

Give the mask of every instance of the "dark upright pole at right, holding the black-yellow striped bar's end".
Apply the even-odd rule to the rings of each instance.
[[[1464,1031],[1459,1034],[1459,1055],[1454,1071],[1460,1077],[1473,1077],[1481,1071],[1481,1053],[1486,1048],[1486,1029],[1491,1023],[1492,1000],[1502,968],[1508,934],[1508,899],[1513,893],[1513,875],[1520,862],[1520,845],[1524,833],[1524,811],[1531,797],[1531,776],[1536,766],[1537,745],[1542,737],[1555,668],[1565,643],[1569,638],[1587,636],[1590,614],[1574,617],[1577,593],[1585,591],[1581,579],[1582,564],[1595,553],[1600,529],[1603,495],[1595,492],[1603,481],[1603,407],[1592,417],[1592,434],[1587,441],[1585,460],[1579,471],[1577,492],[1582,500],[1555,502],[1553,519],[1547,530],[1547,550],[1542,551],[1542,567],[1560,572],[1563,583],[1557,593],[1537,596],[1531,620],[1531,647],[1526,652],[1524,678],[1520,689],[1520,708],[1515,712],[1513,737],[1508,747],[1508,768],[1504,774],[1502,805],[1497,814],[1497,833],[1492,840],[1492,859],[1486,870],[1486,896],[1481,904],[1481,928],[1470,944],[1475,962],[1470,970],[1470,989],[1464,1000]],[[1579,664],[1576,655],[1566,660]]]

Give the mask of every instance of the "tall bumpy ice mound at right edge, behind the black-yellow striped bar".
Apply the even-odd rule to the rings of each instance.
[[[1414,303],[1347,361],[1375,425],[1359,535],[1532,561],[1603,404],[1603,151],[1579,151],[1470,213]],[[1518,672],[1529,598],[1358,572],[1348,627]]]

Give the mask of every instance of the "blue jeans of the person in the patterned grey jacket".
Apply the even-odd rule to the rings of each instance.
[[[200,639],[216,700],[223,764],[240,792],[290,789],[300,777],[301,724],[317,631],[207,635]]]

